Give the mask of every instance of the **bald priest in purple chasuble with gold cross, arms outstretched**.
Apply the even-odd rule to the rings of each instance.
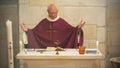
[[[83,45],[82,26],[85,22],[81,21],[76,27],[71,26],[57,15],[58,9],[54,4],[50,4],[47,11],[48,17],[41,20],[33,29],[21,24],[22,30],[27,34],[29,48],[56,47],[56,41],[61,48],[76,48]]]

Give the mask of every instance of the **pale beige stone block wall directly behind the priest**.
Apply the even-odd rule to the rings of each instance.
[[[47,17],[47,6],[55,3],[59,7],[59,16],[76,26],[81,20],[85,40],[100,41],[99,49],[105,55],[106,47],[106,0],[19,0],[19,23],[29,28],[35,27]],[[20,34],[22,30],[20,29]],[[102,61],[104,68],[104,61]]]

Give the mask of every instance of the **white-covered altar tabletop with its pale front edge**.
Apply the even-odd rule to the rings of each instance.
[[[87,53],[87,51],[96,51],[96,53]],[[23,49],[20,53],[17,54],[16,57],[17,59],[96,59],[101,58],[102,53],[97,49],[86,49],[85,54],[79,54],[76,49],[65,49],[65,51],[59,51],[59,55],[56,55],[56,51],[52,50]]]

